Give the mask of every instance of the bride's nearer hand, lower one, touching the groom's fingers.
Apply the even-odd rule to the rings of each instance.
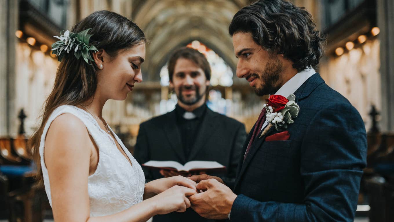
[[[156,214],[167,214],[173,211],[185,212],[190,207],[189,196],[197,194],[194,189],[175,185],[164,192],[152,197],[156,207]]]

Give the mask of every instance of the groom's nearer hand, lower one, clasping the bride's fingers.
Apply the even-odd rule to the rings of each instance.
[[[227,219],[237,195],[216,179],[199,182],[197,190],[204,192],[189,197],[191,208],[208,219]]]

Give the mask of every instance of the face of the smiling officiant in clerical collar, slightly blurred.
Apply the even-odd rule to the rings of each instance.
[[[193,105],[203,100],[209,83],[203,69],[197,64],[186,58],[178,58],[170,86],[174,88],[180,102]]]

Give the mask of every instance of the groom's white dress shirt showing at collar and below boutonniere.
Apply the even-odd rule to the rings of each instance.
[[[294,94],[294,92],[296,92],[297,89],[315,73],[316,71],[313,68],[307,68],[306,70],[297,73],[291,79],[289,79],[289,81],[284,83],[284,85],[282,85],[282,87],[279,88],[279,90],[274,95],[281,95],[287,98],[290,96],[290,94]],[[261,130],[267,125],[268,121],[266,120]]]

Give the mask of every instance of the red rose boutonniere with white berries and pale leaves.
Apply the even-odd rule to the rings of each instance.
[[[269,128],[275,126],[275,130],[281,131],[287,128],[288,124],[294,123],[294,118],[298,116],[299,106],[294,100],[296,96],[290,94],[288,98],[281,95],[271,95],[266,100],[264,108],[267,110],[266,118],[269,126],[266,127],[260,137],[262,137]]]

